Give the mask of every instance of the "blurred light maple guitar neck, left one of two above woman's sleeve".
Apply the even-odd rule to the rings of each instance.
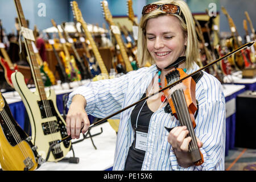
[[[95,56],[95,58],[96,58],[96,60],[98,62],[98,65],[99,65],[100,69],[101,69],[101,73],[105,73],[105,74],[109,75],[109,73],[108,73],[108,71],[106,69],[106,66],[105,66],[105,64],[104,64],[104,62],[103,62],[103,60],[101,58],[100,52],[98,51],[98,48],[97,48],[97,46],[96,46],[96,44],[95,44],[95,42],[94,42],[94,40],[92,38],[92,35],[90,34],[90,32],[89,32],[89,30],[88,30],[88,28],[86,26],[86,23],[85,22],[80,22],[80,23],[82,25],[82,28],[85,31],[86,38],[89,39],[90,45],[92,46],[92,50],[93,50],[94,56]]]

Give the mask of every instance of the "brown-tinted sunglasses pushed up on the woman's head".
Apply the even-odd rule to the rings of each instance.
[[[163,4],[163,5],[156,5],[156,4],[149,4],[143,7],[142,9],[142,15],[146,15],[148,13],[151,13],[152,11],[160,9],[161,11],[164,11],[168,14],[177,14],[180,15],[180,17],[185,22],[185,17],[183,13],[180,10],[180,7],[174,4]]]

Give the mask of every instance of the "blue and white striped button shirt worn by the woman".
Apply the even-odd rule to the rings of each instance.
[[[194,64],[187,74],[199,69]],[[98,118],[105,118],[140,100],[158,69],[156,65],[131,71],[126,75],[110,80],[89,82],[69,95],[68,107],[75,94],[81,94],[87,101],[86,112]],[[152,114],[148,128],[147,150],[142,170],[224,170],[225,169],[225,97],[220,82],[204,72],[196,84],[196,100],[199,110],[196,117],[196,136],[203,142],[200,148],[204,156],[201,166],[183,168],[177,163],[176,156],[168,143],[166,127],[179,126],[179,121],[164,112],[164,107]],[[115,146],[113,170],[123,170],[133,143],[134,131],[130,122],[131,107],[115,115],[120,119]]]

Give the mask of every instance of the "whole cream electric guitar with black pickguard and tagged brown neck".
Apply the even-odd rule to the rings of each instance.
[[[61,117],[56,106],[56,94],[53,90],[47,93],[44,90],[44,84],[40,74],[40,66],[37,63],[35,53],[32,48],[34,40],[33,34],[27,28],[27,22],[24,19],[22,6],[19,0],[14,0],[15,7],[18,13],[19,24],[26,30],[27,34],[23,34],[24,43],[30,62],[32,77],[34,78],[36,91],[31,92],[25,82],[24,76],[20,72],[15,72],[11,75],[11,80],[15,90],[19,93],[24,106],[26,107],[31,125],[32,143],[38,147],[38,153],[46,159],[46,154],[49,153],[48,161],[56,162],[64,158],[70,150],[71,142],[63,144],[57,141],[63,137],[67,137],[65,129],[65,121]],[[49,150],[51,149],[51,150]]]

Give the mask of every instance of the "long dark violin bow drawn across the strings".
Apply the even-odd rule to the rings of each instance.
[[[121,109],[121,110],[119,110],[119,111],[117,111],[117,112],[115,112],[115,113],[113,113],[113,114],[111,114],[111,115],[109,115],[109,116],[106,117],[106,118],[100,119],[99,121],[92,123],[92,125],[89,126],[88,130],[91,129],[92,127],[94,127],[94,126],[100,125],[100,123],[106,121],[106,120],[109,119],[109,118],[112,118],[114,115],[117,115],[117,114],[119,114],[119,113],[122,113],[122,111],[125,111],[126,109],[129,109],[130,107],[133,107],[134,105],[139,104],[139,102],[142,102],[142,101],[144,101],[144,100],[147,100],[148,98],[150,98],[150,97],[152,97],[152,96],[154,96],[154,95],[156,95],[156,94],[162,92],[163,90],[166,90],[166,89],[170,88],[171,86],[174,86],[174,85],[176,85],[176,84],[179,84],[181,81],[185,80],[186,78],[191,77],[191,76],[195,75],[196,73],[198,73],[198,72],[200,72],[200,71],[203,71],[204,69],[210,67],[211,65],[217,63],[218,61],[220,61],[220,60],[222,60],[222,59],[225,59],[226,57],[229,57],[229,56],[233,55],[234,53],[236,53],[236,52],[238,52],[238,51],[241,51],[242,49],[244,49],[244,48],[246,48],[246,47],[252,46],[254,43],[255,43],[255,42],[253,41],[253,42],[249,42],[249,43],[243,44],[241,47],[238,47],[238,48],[235,49],[234,51],[227,53],[226,55],[220,57],[219,59],[217,59],[217,60],[215,60],[215,61],[212,61],[212,63],[209,63],[209,64],[205,65],[204,67],[202,67],[202,68],[200,68],[200,69],[197,69],[197,71],[195,71],[195,72],[193,72],[193,73],[190,73],[189,75],[187,75],[187,76],[185,76],[185,77],[183,77],[183,78],[180,78],[180,80],[177,80],[177,81],[173,82],[172,84],[167,85],[166,87],[164,87],[164,88],[158,90],[158,92],[152,93],[152,94],[150,94],[149,96],[144,97],[144,98],[142,98],[141,100],[139,100],[139,101],[137,101],[137,102],[134,102],[134,104],[131,104],[131,105],[129,105],[129,106],[127,106],[127,107],[125,107],[125,108],[123,108],[123,109]],[[65,138],[63,138],[63,139],[61,139],[61,140],[58,140],[57,143],[61,143],[61,142],[64,142],[64,141],[66,141],[66,140],[71,140],[71,139],[72,139],[72,138],[71,138],[71,135],[69,135],[68,137],[65,137]]]

